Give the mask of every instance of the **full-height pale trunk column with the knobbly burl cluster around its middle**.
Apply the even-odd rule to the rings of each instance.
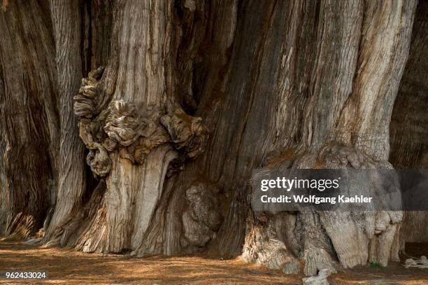
[[[118,2],[114,13],[110,62],[91,73],[75,97],[87,161],[106,181],[97,222],[74,238],[83,251],[140,246],[170,162],[196,155],[204,137],[200,120],[173,97],[171,4]]]

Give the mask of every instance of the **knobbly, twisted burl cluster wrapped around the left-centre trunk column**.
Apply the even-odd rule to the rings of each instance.
[[[95,176],[110,172],[109,153],[114,151],[138,164],[143,164],[147,155],[161,144],[171,144],[180,155],[179,162],[204,152],[208,132],[202,119],[187,115],[178,104],[171,104],[171,111],[162,113],[138,109],[133,102],[120,99],[101,109],[97,85],[103,71],[99,67],[83,78],[78,95],[73,98],[80,138],[90,150],[87,164]]]

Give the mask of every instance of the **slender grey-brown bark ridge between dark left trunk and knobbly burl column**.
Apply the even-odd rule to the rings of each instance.
[[[59,139],[58,186],[55,211],[45,234],[45,241],[59,237],[64,226],[80,207],[85,192],[85,160],[83,143],[76,128],[73,96],[83,77],[80,53],[79,1],[52,1],[50,12],[55,35],[55,62],[58,77],[58,110],[61,134]]]

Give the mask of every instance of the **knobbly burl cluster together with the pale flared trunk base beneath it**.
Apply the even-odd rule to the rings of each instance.
[[[166,173],[202,153],[208,133],[201,118],[176,104],[162,113],[117,99],[100,110],[97,84],[102,73],[102,68],[95,69],[82,80],[74,111],[80,138],[89,149],[87,164],[96,178],[106,181],[106,193],[72,245],[83,251],[120,252],[141,246]]]

